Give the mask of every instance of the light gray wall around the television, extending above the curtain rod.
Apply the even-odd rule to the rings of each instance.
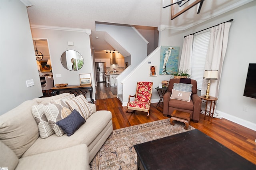
[[[254,130],[256,130],[256,99],[244,97],[243,93],[248,64],[256,63],[255,16],[256,1],[253,1],[184,31],[182,37],[168,35],[172,30],[161,32],[161,45],[172,45],[188,34],[234,19],[230,27],[216,109],[220,116]],[[248,107],[248,112],[243,111],[244,106]]]

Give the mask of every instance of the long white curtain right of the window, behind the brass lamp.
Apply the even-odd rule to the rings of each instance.
[[[228,33],[231,22],[222,23],[218,26],[211,28],[210,42],[206,55],[206,70],[218,70],[218,80],[210,81],[210,96],[218,97],[220,78],[222,72],[222,64],[226,55],[228,45]],[[208,80],[203,80],[201,95],[206,94]],[[218,117],[214,113],[214,117]]]

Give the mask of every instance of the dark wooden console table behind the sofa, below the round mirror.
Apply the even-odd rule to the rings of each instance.
[[[84,95],[84,97],[86,97],[86,89],[88,89],[88,91],[90,92],[91,103],[94,103],[92,99],[92,86],[67,85],[65,87],[53,87],[52,96],[59,95],[61,93],[70,93],[74,94],[75,96]]]

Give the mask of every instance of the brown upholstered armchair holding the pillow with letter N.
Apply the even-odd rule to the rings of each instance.
[[[174,110],[184,111],[184,112],[190,113],[190,119],[192,119],[195,123],[198,123],[202,101],[200,97],[196,94],[197,93],[196,80],[191,79],[191,84],[193,86],[192,86],[191,100],[189,102],[177,100],[177,99],[170,99],[174,83],[180,83],[180,80],[182,80],[181,81],[182,83],[184,82],[190,83],[190,79],[170,79],[168,90],[164,95],[163,114],[164,116],[167,116],[167,115],[171,115]]]

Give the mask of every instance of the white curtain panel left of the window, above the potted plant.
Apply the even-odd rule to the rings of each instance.
[[[180,57],[179,70],[186,71],[191,75],[191,60],[194,35],[186,36],[183,42],[183,48]]]

